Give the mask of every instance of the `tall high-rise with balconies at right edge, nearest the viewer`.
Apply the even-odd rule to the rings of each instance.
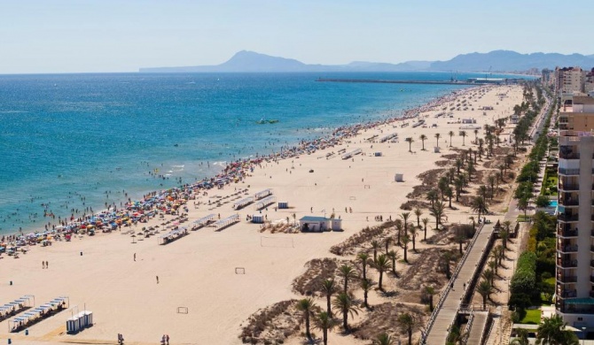
[[[594,98],[559,111],[556,310],[568,325],[594,327]]]

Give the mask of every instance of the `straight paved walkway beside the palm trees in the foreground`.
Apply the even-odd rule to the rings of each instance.
[[[442,297],[445,299],[441,308],[437,311],[433,326],[429,329],[426,344],[441,345],[448,338],[449,326],[456,318],[462,295],[464,295],[464,288],[465,286],[468,288],[465,283],[473,278],[477,265],[481,260],[482,252],[487,247],[489,237],[493,234],[493,226],[495,226],[493,223],[482,226],[472,248],[467,249],[470,252],[457,273],[457,277],[453,282],[454,287],[444,291],[447,295]]]

